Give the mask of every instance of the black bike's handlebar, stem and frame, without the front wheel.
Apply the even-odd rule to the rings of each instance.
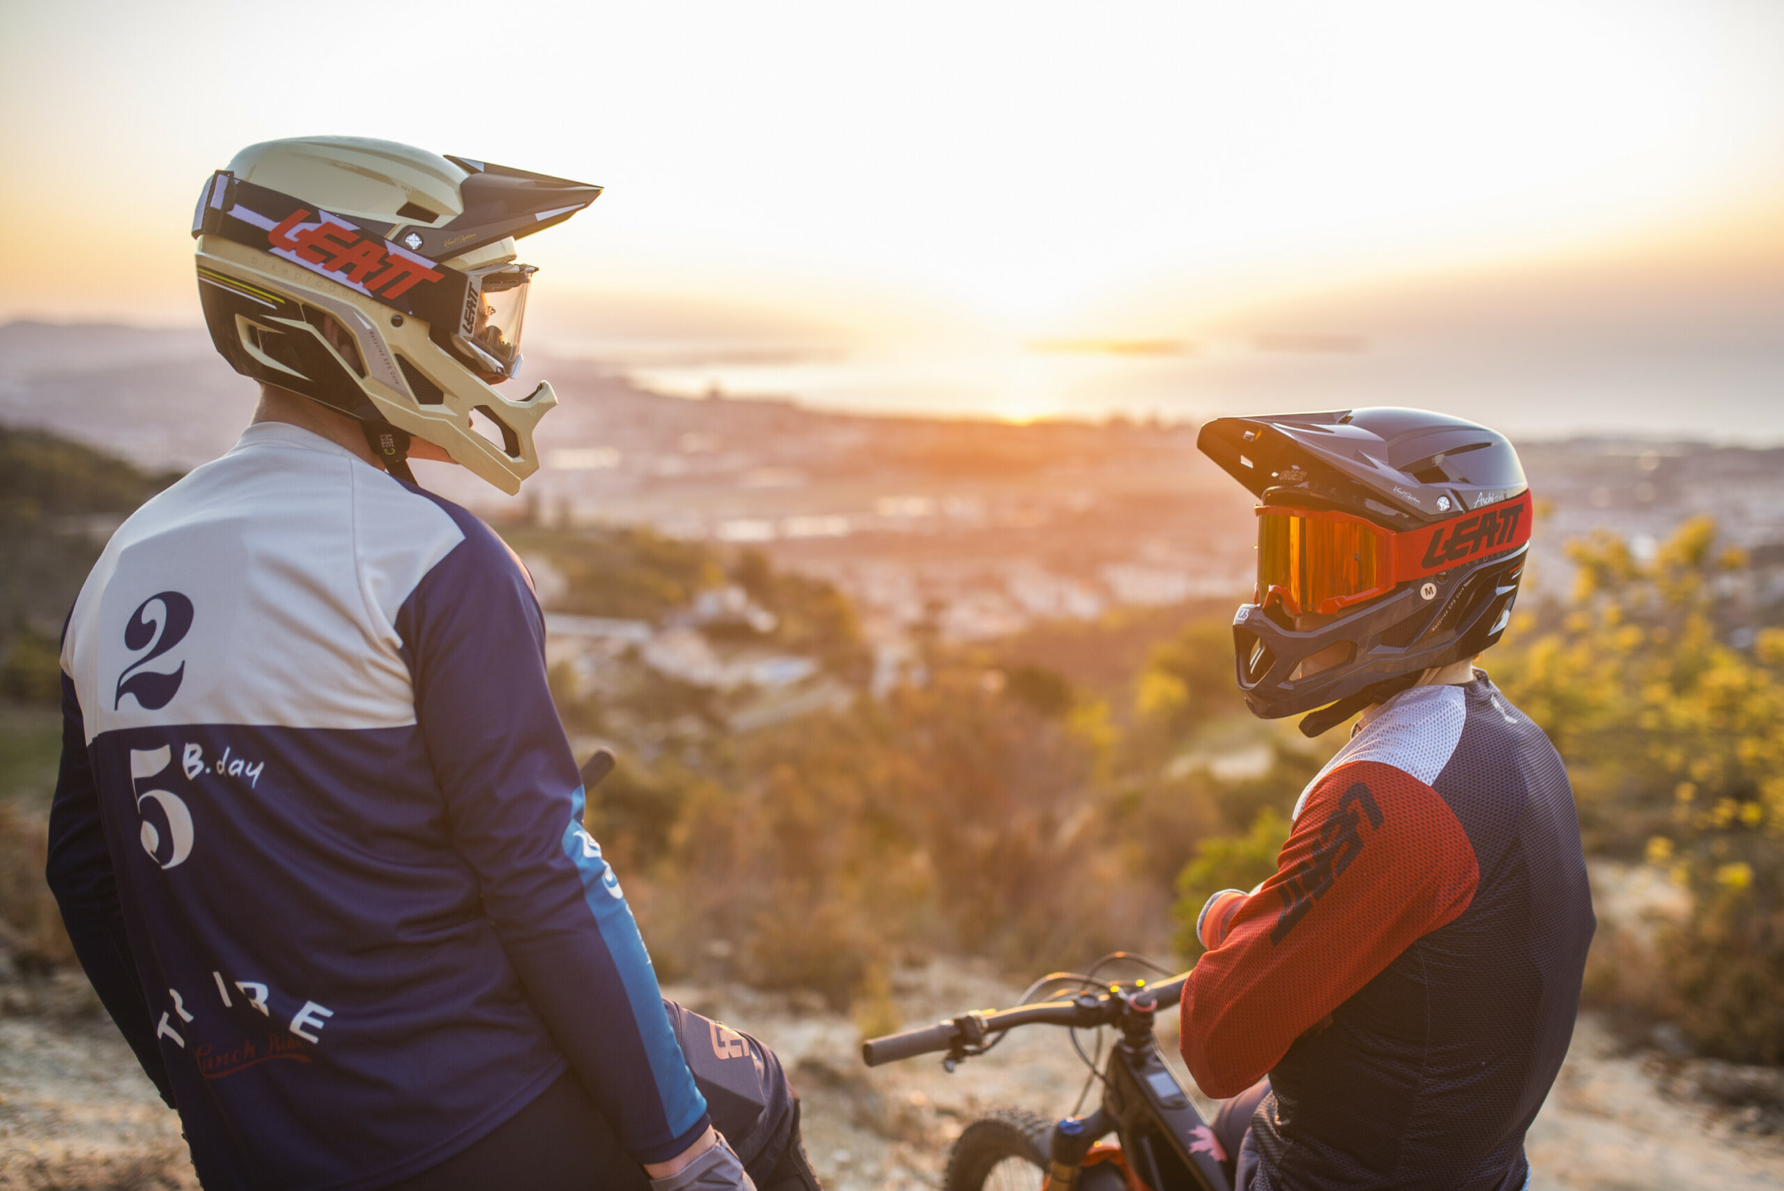
[[[1017,1006],[994,1013],[965,1013],[928,1029],[874,1038],[862,1043],[867,1066],[896,1063],[919,1054],[946,1052],[949,1072],[990,1047],[992,1034],[1019,1025],[1067,1025],[1094,1029],[1111,1025],[1117,1041],[1103,1072],[1103,1105],[1085,1118],[1078,1134],[1079,1154],[1108,1134],[1120,1141],[1129,1170],[1152,1191],[1231,1191],[1215,1157],[1218,1143],[1195,1104],[1165,1066],[1152,1025],[1158,1009],[1183,997],[1183,977],[1165,984],[1111,986],[1106,993],[1081,993],[1070,1000]]]

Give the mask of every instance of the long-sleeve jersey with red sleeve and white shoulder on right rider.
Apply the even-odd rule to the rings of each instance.
[[[1183,1055],[1252,1120],[1258,1191],[1520,1187],[1595,927],[1549,738],[1483,672],[1375,708],[1277,872],[1206,908]]]

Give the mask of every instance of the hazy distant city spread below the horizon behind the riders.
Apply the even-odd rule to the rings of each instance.
[[[908,654],[919,624],[978,640],[1251,590],[1251,499],[1195,451],[1192,424],[871,417],[662,396],[587,362],[535,362],[530,374],[551,378],[560,408],[521,499],[446,465],[417,478],[498,522],[642,524],[760,549],[840,587],[881,669]],[[252,398],[202,332],[0,328],[0,421],[137,464],[191,467],[228,449]],[[1643,556],[1707,513],[1759,563],[1755,608],[1784,599],[1784,449],[1606,437],[1520,451],[1540,510],[1538,592],[1565,592],[1572,538],[1609,531]],[[549,608],[551,576],[535,571]],[[555,629],[640,631],[564,617]],[[644,644],[665,672],[703,685],[803,678],[790,661],[723,672],[683,637],[651,629]]]

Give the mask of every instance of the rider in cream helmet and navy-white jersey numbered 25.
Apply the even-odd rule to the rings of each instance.
[[[658,995],[526,572],[407,465],[537,469],[516,239],[598,194],[357,137],[200,194],[260,405],[75,603],[48,879],[207,1187],[815,1187],[772,1052]]]

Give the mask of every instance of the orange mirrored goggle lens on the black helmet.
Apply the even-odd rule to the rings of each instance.
[[[1258,510],[1258,599],[1333,613],[1393,590],[1388,533],[1342,513]]]

